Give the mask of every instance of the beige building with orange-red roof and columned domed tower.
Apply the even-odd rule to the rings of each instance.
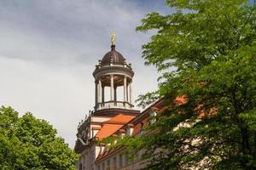
[[[76,162],[79,170],[141,169],[140,152],[137,159],[129,161],[129,151],[124,147],[108,150],[101,139],[114,135],[142,135],[143,127],[150,123],[148,117],[163,108],[157,101],[145,111],[134,109],[132,104],[131,64],[115,49],[112,36],[111,50],[99,60],[93,72],[95,78],[95,107],[79,123],[74,150],[80,154]],[[152,120],[151,120],[152,121]],[[153,120],[154,121],[154,120]]]

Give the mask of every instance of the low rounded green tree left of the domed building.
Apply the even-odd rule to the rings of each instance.
[[[0,169],[75,169],[77,155],[48,122],[0,108]]]

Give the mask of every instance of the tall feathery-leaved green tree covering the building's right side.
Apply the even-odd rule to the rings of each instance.
[[[159,133],[121,144],[146,149],[147,169],[255,169],[254,4],[247,0],[167,0],[166,4],[176,12],[148,14],[137,27],[156,31],[143,45],[143,58],[162,73],[159,90],[138,100],[144,106],[148,99],[163,96],[169,109],[148,127]],[[187,102],[175,105],[177,96]],[[174,130],[188,120],[191,127]]]

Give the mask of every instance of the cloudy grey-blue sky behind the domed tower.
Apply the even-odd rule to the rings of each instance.
[[[73,148],[77,126],[95,101],[92,72],[110,50],[132,64],[133,99],[157,88],[158,73],[145,66],[136,32],[152,11],[172,12],[162,0],[0,1],[0,105],[47,120]]]

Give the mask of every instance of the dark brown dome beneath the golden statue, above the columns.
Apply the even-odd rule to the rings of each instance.
[[[115,50],[114,45],[111,46],[111,51],[105,54],[102,58],[101,65],[109,65],[111,60],[113,60],[113,64],[123,65],[125,63],[125,58],[122,54]]]

